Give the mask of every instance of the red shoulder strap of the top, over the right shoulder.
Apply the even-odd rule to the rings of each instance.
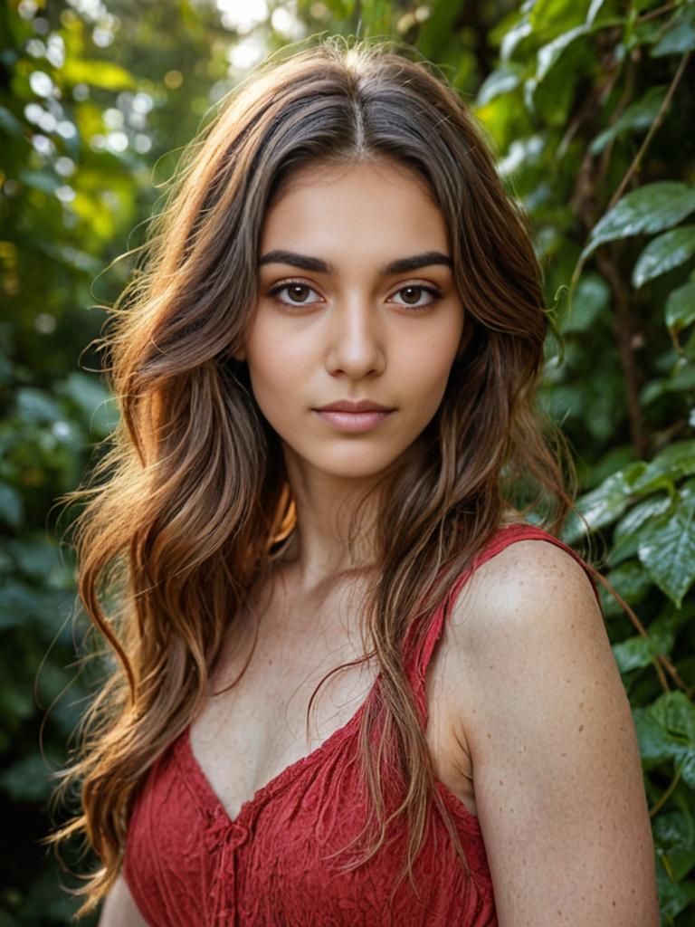
[[[492,535],[490,540],[487,541],[486,545],[474,555],[470,564],[461,573],[461,576],[456,578],[456,580],[452,583],[443,602],[436,608],[436,612],[432,616],[430,626],[424,634],[422,644],[418,652],[414,654],[411,667],[409,667],[409,676],[415,691],[416,701],[420,707],[421,712],[423,713],[425,721],[427,718],[427,700],[424,676],[432,654],[434,653],[436,642],[439,640],[442,629],[444,627],[444,622],[446,621],[446,618],[451,610],[452,604],[456,601],[459,592],[479,566],[482,566],[488,560],[491,560],[496,554],[498,554],[500,551],[503,551],[506,547],[509,547],[510,544],[513,544],[517,540],[547,540],[558,547],[562,547],[562,550],[570,553],[575,558],[577,563],[584,567],[591,582],[591,587],[594,590],[596,600],[599,603],[599,607],[601,608],[599,590],[596,586],[596,580],[591,575],[591,571],[587,563],[571,547],[565,544],[562,540],[556,538],[554,535],[550,534],[550,532],[544,530],[541,527],[537,527],[536,525],[513,523],[499,527],[498,530],[495,531],[495,533]]]

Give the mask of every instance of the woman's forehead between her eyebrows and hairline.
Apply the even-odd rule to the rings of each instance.
[[[448,230],[428,184],[407,166],[390,159],[319,163],[283,185],[266,213],[261,242],[262,248],[304,242],[313,248],[310,253],[332,245],[378,248],[383,256],[385,251],[446,250]]]

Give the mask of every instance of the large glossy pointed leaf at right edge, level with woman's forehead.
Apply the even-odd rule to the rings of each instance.
[[[662,232],[695,211],[695,189],[675,180],[656,181],[633,190],[600,218],[580,260],[609,241]]]

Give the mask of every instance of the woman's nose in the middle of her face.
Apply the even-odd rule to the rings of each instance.
[[[325,363],[330,374],[345,374],[353,380],[383,373],[383,326],[368,299],[356,297],[335,307]]]

